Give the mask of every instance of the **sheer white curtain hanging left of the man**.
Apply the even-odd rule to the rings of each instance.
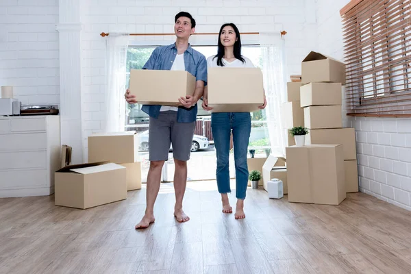
[[[105,41],[105,120],[103,132],[125,130],[125,73],[129,34],[112,34]]]

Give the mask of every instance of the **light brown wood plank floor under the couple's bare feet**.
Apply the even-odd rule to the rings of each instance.
[[[236,221],[215,182],[192,182],[183,224],[174,201],[162,184],[155,224],[136,231],[145,188],[88,210],[0,199],[0,273],[411,273],[411,212],[363,193],[320,206],[249,188]]]

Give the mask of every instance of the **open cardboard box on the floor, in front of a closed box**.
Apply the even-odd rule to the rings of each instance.
[[[97,162],[65,166],[55,172],[55,205],[92,208],[127,199],[126,169]]]

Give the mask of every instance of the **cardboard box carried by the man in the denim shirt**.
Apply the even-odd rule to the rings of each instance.
[[[194,95],[195,77],[188,71],[130,70],[129,90],[145,105],[181,105],[178,99]]]

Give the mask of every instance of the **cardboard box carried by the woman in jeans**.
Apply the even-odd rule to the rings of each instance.
[[[211,112],[257,112],[264,104],[258,68],[209,68],[207,85]]]

